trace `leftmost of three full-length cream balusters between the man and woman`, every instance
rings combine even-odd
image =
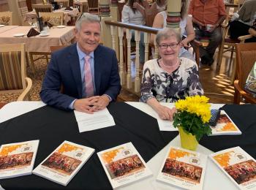
[[[119,37],[119,75],[120,75],[121,85],[124,85],[124,54],[123,54],[124,30],[121,27],[118,27],[118,37]]]

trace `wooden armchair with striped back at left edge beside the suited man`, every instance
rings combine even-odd
[[[0,94],[21,93],[18,101],[30,99],[32,80],[26,77],[25,44],[1,44],[0,68]]]

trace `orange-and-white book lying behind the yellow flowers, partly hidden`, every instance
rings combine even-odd
[[[236,124],[231,120],[231,118],[225,113],[224,110],[220,111],[219,118],[217,120],[216,126],[211,126],[211,132],[213,135],[235,135],[235,134],[242,134],[242,132],[238,129]]]

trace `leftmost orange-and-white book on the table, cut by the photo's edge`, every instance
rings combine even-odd
[[[1,145],[0,179],[30,175],[34,167],[39,140]]]

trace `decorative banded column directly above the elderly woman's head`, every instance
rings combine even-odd
[[[179,28],[181,22],[181,0],[167,1],[167,27]]]

